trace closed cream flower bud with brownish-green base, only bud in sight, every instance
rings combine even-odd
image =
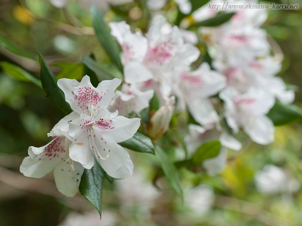
[[[150,118],[147,134],[152,140],[158,139],[169,129],[174,104],[175,96],[172,96]]]

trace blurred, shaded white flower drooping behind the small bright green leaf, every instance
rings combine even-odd
[[[185,143],[189,154],[194,154],[203,143],[219,140],[221,149],[217,156],[206,159],[203,167],[208,175],[219,174],[226,166],[227,149],[240,150],[241,143],[225,131],[219,131],[215,127],[204,128],[199,125],[189,124],[189,134],[185,136]],[[221,129],[220,129],[221,130]]]

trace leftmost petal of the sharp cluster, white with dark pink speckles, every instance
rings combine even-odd
[[[23,159],[20,165],[20,172],[27,177],[44,177],[65,156],[65,152],[62,149],[65,139],[64,137],[56,137],[49,144],[43,146],[43,152],[40,154],[34,154],[32,151],[33,147],[29,147],[29,156]]]

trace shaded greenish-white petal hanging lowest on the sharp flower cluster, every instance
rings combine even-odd
[[[75,171],[72,170],[70,165],[70,162],[68,164],[66,161],[61,161],[53,171],[57,189],[67,197],[73,197],[78,193],[79,184],[84,172],[84,168],[80,163],[74,162],[73,167]]]

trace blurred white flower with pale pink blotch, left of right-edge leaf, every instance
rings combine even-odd
[[[240,94],[228,87],[220,92],[219,97],[224,101],[226,121],[235,133],[242,126],[256,143],[265,145],[274,141],[275,127],[266,116],[275,104],[271,94],[254,87]]]

